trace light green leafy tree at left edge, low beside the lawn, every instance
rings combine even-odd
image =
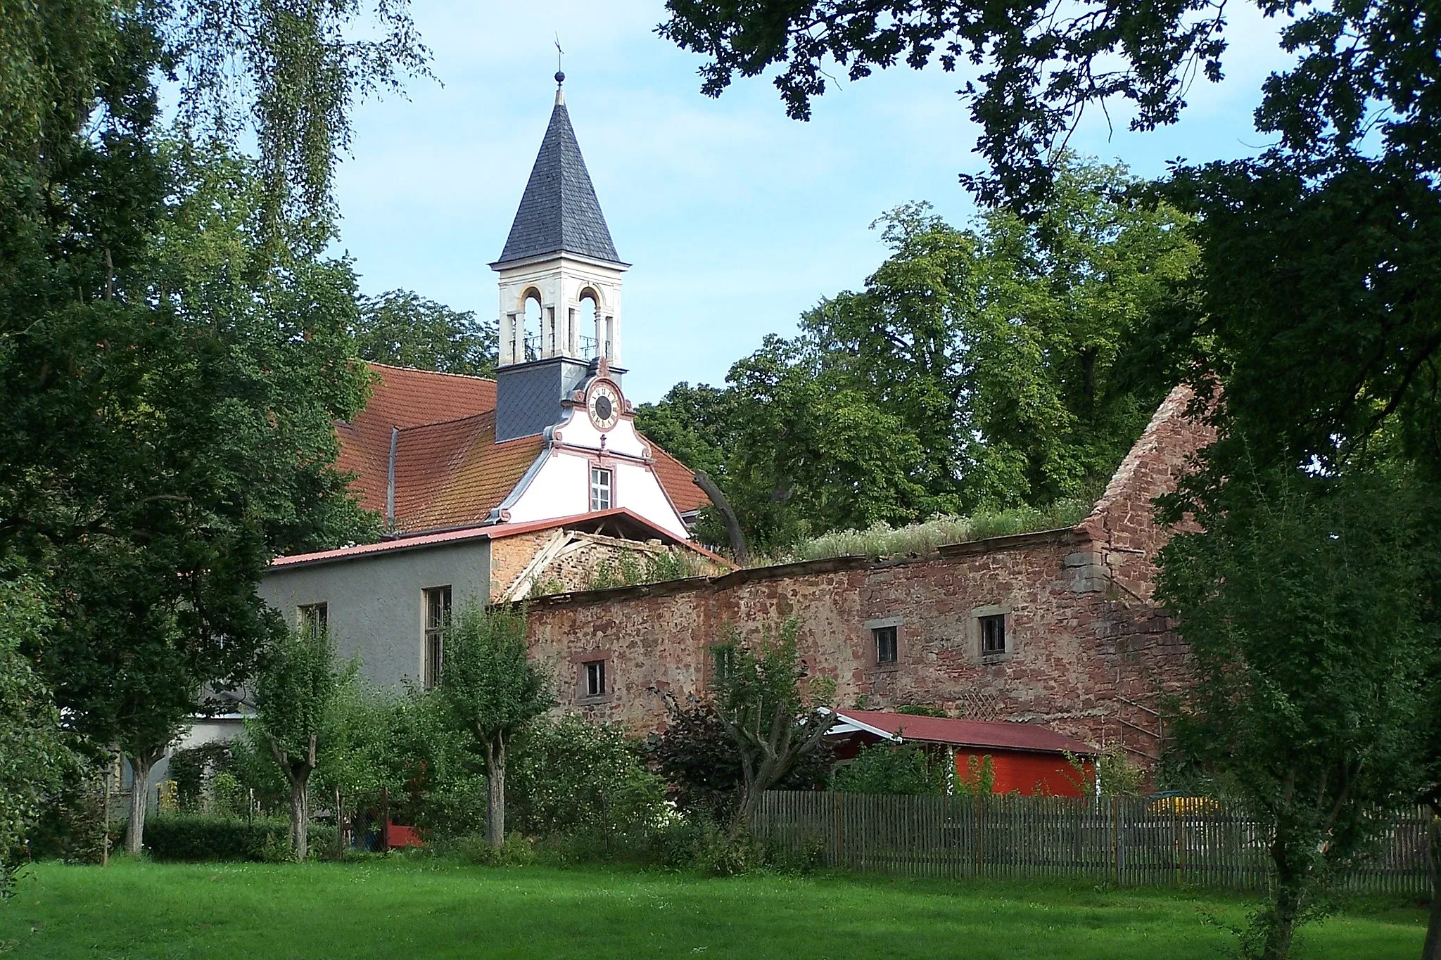
[[[16,570],[0,574],[0,898],[7,898],[24,862],[26,829],[73,757],[61,714],[22,652],[43,642],[50,617],[40,583]]]

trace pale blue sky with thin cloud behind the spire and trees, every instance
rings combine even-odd
[[[976,128],[940,68],[891,69],[831,85],[810,122],[785,117],[765,78],[720,98],[699,92],[703,59],[660,39],[663,0],[418,0],[434,79],[357,107],[337,176],[337,252],[365,294],[405,288],[483,318],[499,311],[496,273],[555,98],[555,37],[565,99],[621,259],[625,393],[720,384],[765,334],[860,289],[885,259],[870,223],[927,200],[963,226],[974,213],[960,173],[978,171]],[[1092,111],[1072,140],[1143,176],[1166,161],[1252,155],[1262,79],[1287,60],[1278,24],[1229,12],[1226,79],[1197,82],[1179,125],[1114,134]]]

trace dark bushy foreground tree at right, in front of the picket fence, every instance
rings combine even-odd
[[[1248,948],[1285,957],[1330,908],[1389,810],[1425,780],[1438,630],[1435,504],[1405,466],[1267,468],[1200,501],[1203,533],[1163,550],[1159,596],[1195,682],[1170,728],[1197,771],[1271,826],[1272,902]]]

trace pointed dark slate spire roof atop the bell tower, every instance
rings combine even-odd
[[[526,191],[520,196],[520,209],[510,225],[506,249],[494,265],[562,250],[621,262],[601,203],[595,199],[581,145],[575,142],[571,115],[565,104],[556,104]]]

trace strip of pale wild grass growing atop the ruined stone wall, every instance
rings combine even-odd
[[[908,557],[935,553],[947,544],[1010,537],[1038,530],[1075,527],[1091,512],[1091,499],[1059,499],[1049,507],[977,511],[970,517],[932,517],[919,524],[891,527],[885,522],[866,530],[843,530],[811,537],[787,554],[765,563],[794,563],[827,557]]]

